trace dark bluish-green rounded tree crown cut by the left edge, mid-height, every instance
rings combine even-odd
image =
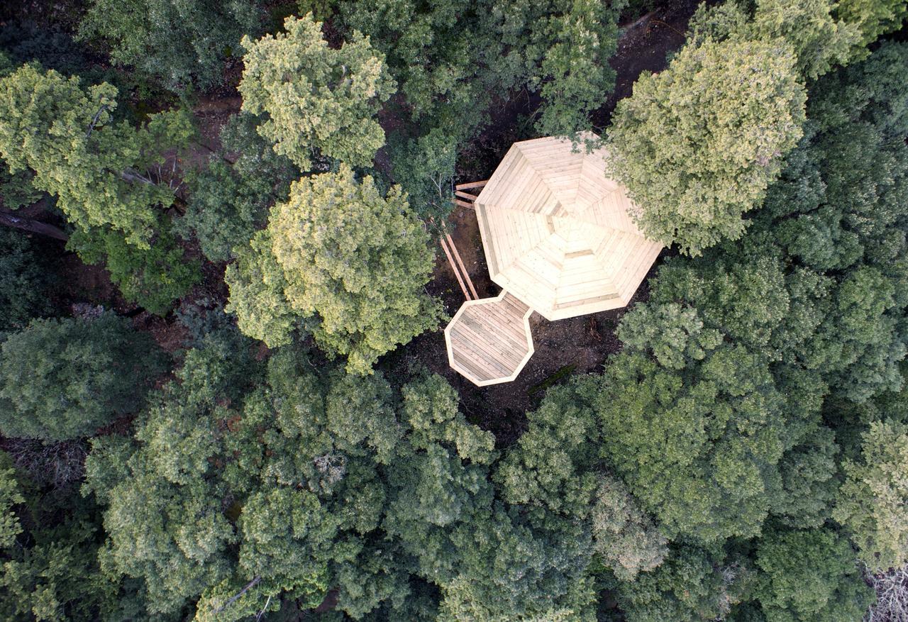
[[[161,363],[151,337],[111,312],[32,321],[0,347],[0,430],[45,440],[91,434],[142,406]]]

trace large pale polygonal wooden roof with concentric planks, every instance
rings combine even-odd
[[[514,143],[474,203],[492,281],[548,320],[626,306],[662,250],[607,157],[554,137]]]

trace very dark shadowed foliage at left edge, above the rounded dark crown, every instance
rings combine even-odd
[[[0,331],[20,329],[51,310],[48,262],[25,232],[0,230]]]

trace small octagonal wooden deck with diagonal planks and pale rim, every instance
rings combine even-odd
[[[516,379],[533,355],[532,312],[507,291],[464,302],[445,329],[450,366],[480,387]]]

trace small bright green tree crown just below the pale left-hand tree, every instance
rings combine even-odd
[[[165,221],[166,222],[166,221]],[[127,301],[166,315],[173,301],[202,280],[198,260],[187,259],[167,224],[157,227],[151,247],[141,249],[110,229],[77,229],[67,242],[85,263],[101,263]]]

